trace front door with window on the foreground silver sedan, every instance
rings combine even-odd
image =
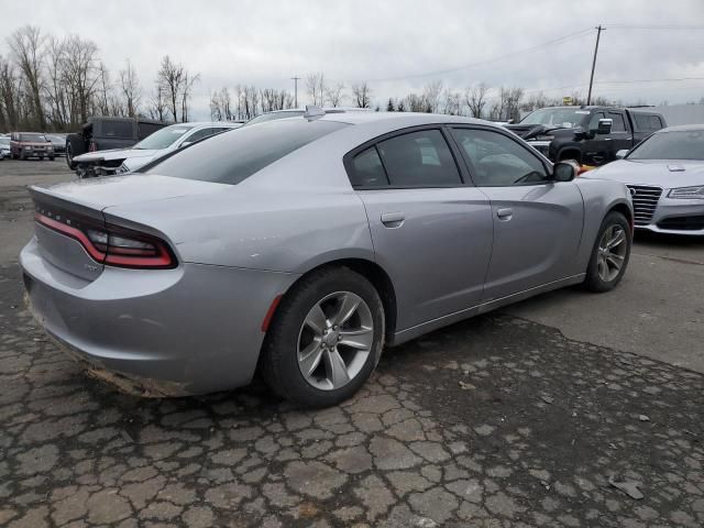
[[[483,301],[578,274],[584,206],[576,185],[553,182],[550,166],[506,132],[453,128],[452,134],[492,206],[494,245]]]

